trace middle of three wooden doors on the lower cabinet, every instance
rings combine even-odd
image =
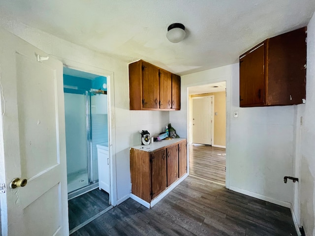
[[[166,148],[167,187],[178,179],[178,145]]]

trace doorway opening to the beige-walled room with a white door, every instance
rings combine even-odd
[[[188,88],[189,175],[225,186],[226,83]]]

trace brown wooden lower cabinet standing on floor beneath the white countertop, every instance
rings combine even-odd
[[[130,148],[131,193],[150,203],[187,173],[187,141],[157,149]]]

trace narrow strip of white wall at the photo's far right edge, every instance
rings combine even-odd
[[[315,235],[315,15],[307,29],[306,104],[296,111],[294,211],[307,236]],[[302,117],[302,124],[301,124]]]

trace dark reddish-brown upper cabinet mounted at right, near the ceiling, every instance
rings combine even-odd
[[[240,107],[303,103],[306,28],[268,38],[240,56]]]

